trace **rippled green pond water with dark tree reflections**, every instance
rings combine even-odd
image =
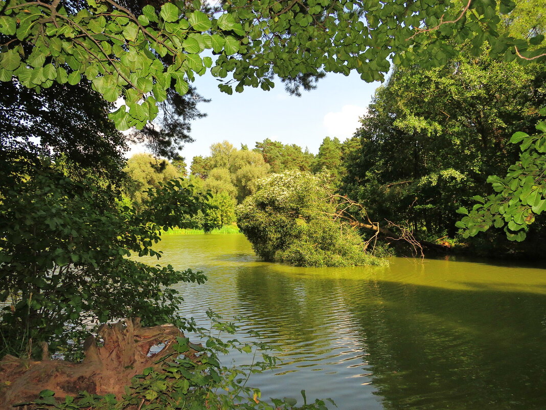
[[[546,409],[546,270],[394,258],[386,268],[257,260],[242,235],[165,237],[162,263],[206,272],[181,312],[242,317],[283,364],[263,397],[331,397],[339,409]],[[234,355],[227,360],[248,362]],[[331,408],[334,408],[331,406]]]

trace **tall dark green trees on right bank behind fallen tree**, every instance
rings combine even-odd
[[[395,69],[361,121],[343,192],[378,220],[454,237],[455,210],[517,158],[509,138],[530,131],[545,80],[544,65],[493,61],[487,50],[462,49],[442,68]]]

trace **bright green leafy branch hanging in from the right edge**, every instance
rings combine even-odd
[[[546,108],[542,110],[546,115]],[[541,133],[529,136],[516,132],[510,140],[520,144],[519,161],[508,168],[505,178],[491,175],[487,181],[496,194],[485,198],[475,196],[477,203],[468,210],[464,207],[457,212],[465,214],[457,226],[464,229],[463,236],[475,236],[491,226],[503,228],[510,241],[523,241],[529,225],[546,210],[546,122],[539,122]]]

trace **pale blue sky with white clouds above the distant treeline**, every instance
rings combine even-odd
[[[302,91],[301,97],[289,95],[276,81],[270,91],[247,87],[242,93],[220,92],[218,81],[209,73],[197,77],[193,85],[211,102],[199,104],[203,119],[194,120],[191,136],[195,142],[186,144],[181,155],[189,164],[194,156],[209,155],[213,143],[228,140],[236,148],[247,144],[254,148],[265,138],[283,144],[306,147],[313,154],[325,137],[340,140],[352,137],[358,119],[366,113],[375,89],[380,83],[366,83],[357,73],[348,77],[329,73],[318,81],[316,90]],[[129,155],[145,151],[132,147]]]

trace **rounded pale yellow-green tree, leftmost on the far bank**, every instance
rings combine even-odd
[[[127,161],[124,171],[129,177],[129,198],[136,205],[140,205],[147,198],[147,189],[158,188],[159,183],[182,176],[170,162],[158,160],[150,154],[133,155]]]

